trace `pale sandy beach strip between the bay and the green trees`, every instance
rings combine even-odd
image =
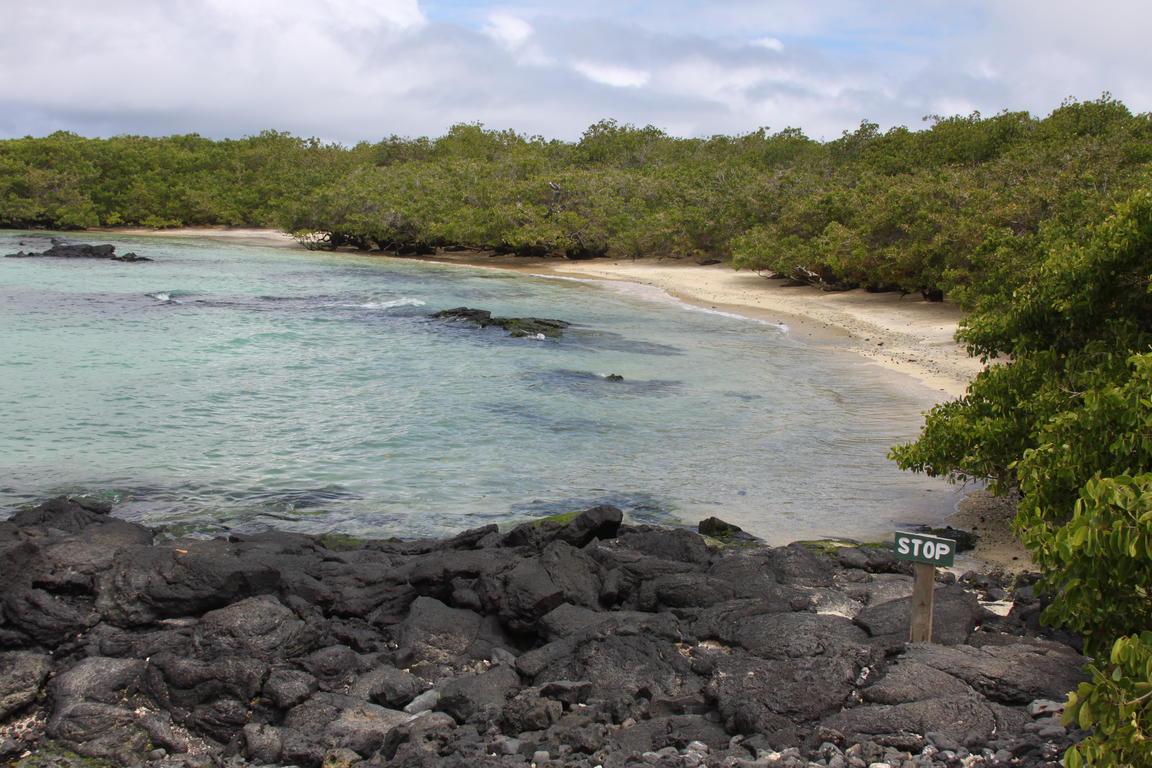
[[[303,248],[286,233],[259,228],[157,230],[124,227],[88,231]],[[804,343],[833,353],[864,358],[900,374],[893,377],[897,386],[918,382],[934,403],[962,396],[968,382],[983,367],[955,342],[954,334],[963,313],[948,303],[899,297],[896,294],[869,294],[862,289],[828,292],[811,287],[786,287],[780,281],[751,272],[736,272],[723,265],[702,266],[655,259],[568,261],[478,251],[385,258],[647,286],[692,306],[783,325],[789,335]],[[1031,561],[1028,550],[1011,532],[1011,518],[1010,504],[975,491],[957,504],[946,523],[979,534],[976,549],[967,553],[970,557],[1016,573],[1029,570]]]

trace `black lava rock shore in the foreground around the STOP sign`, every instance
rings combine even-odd
[[[438,541],[172,539],[83,499],[0,522],[16,766],[1058,766],[1084,659],[884,548],[568,520]],[[1005,603],[1006,606],[1009,603]],[[1074,640],[1071,640],[1075,642]]]

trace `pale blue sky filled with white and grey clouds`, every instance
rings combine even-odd
[[[0,138],[573,140],[1152,111],[1144,0],[0,0]]]

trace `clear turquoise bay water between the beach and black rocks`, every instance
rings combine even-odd
[[[92,493],[180,531],[412,538],[607,502],[783,542],[886,535],[956,501],[885,459],[926,390],[779,326],[606,283],[79,242],[154,261],[0,259],[2,510]],[[0,233],[0,253],[46,246]],[[429,318],[454,306],[575,325]]]

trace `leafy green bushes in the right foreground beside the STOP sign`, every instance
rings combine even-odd
[[[1053,223],[998,248],[1030,266],[985,287],[961,326],[988,367],[893,456],[1022,493],[1015,526],[1051,599],[1043,618],[1094,657],[1066,716],[1096,730],[1068,765],[1150,765],[1152,192],[1086,233]]]

